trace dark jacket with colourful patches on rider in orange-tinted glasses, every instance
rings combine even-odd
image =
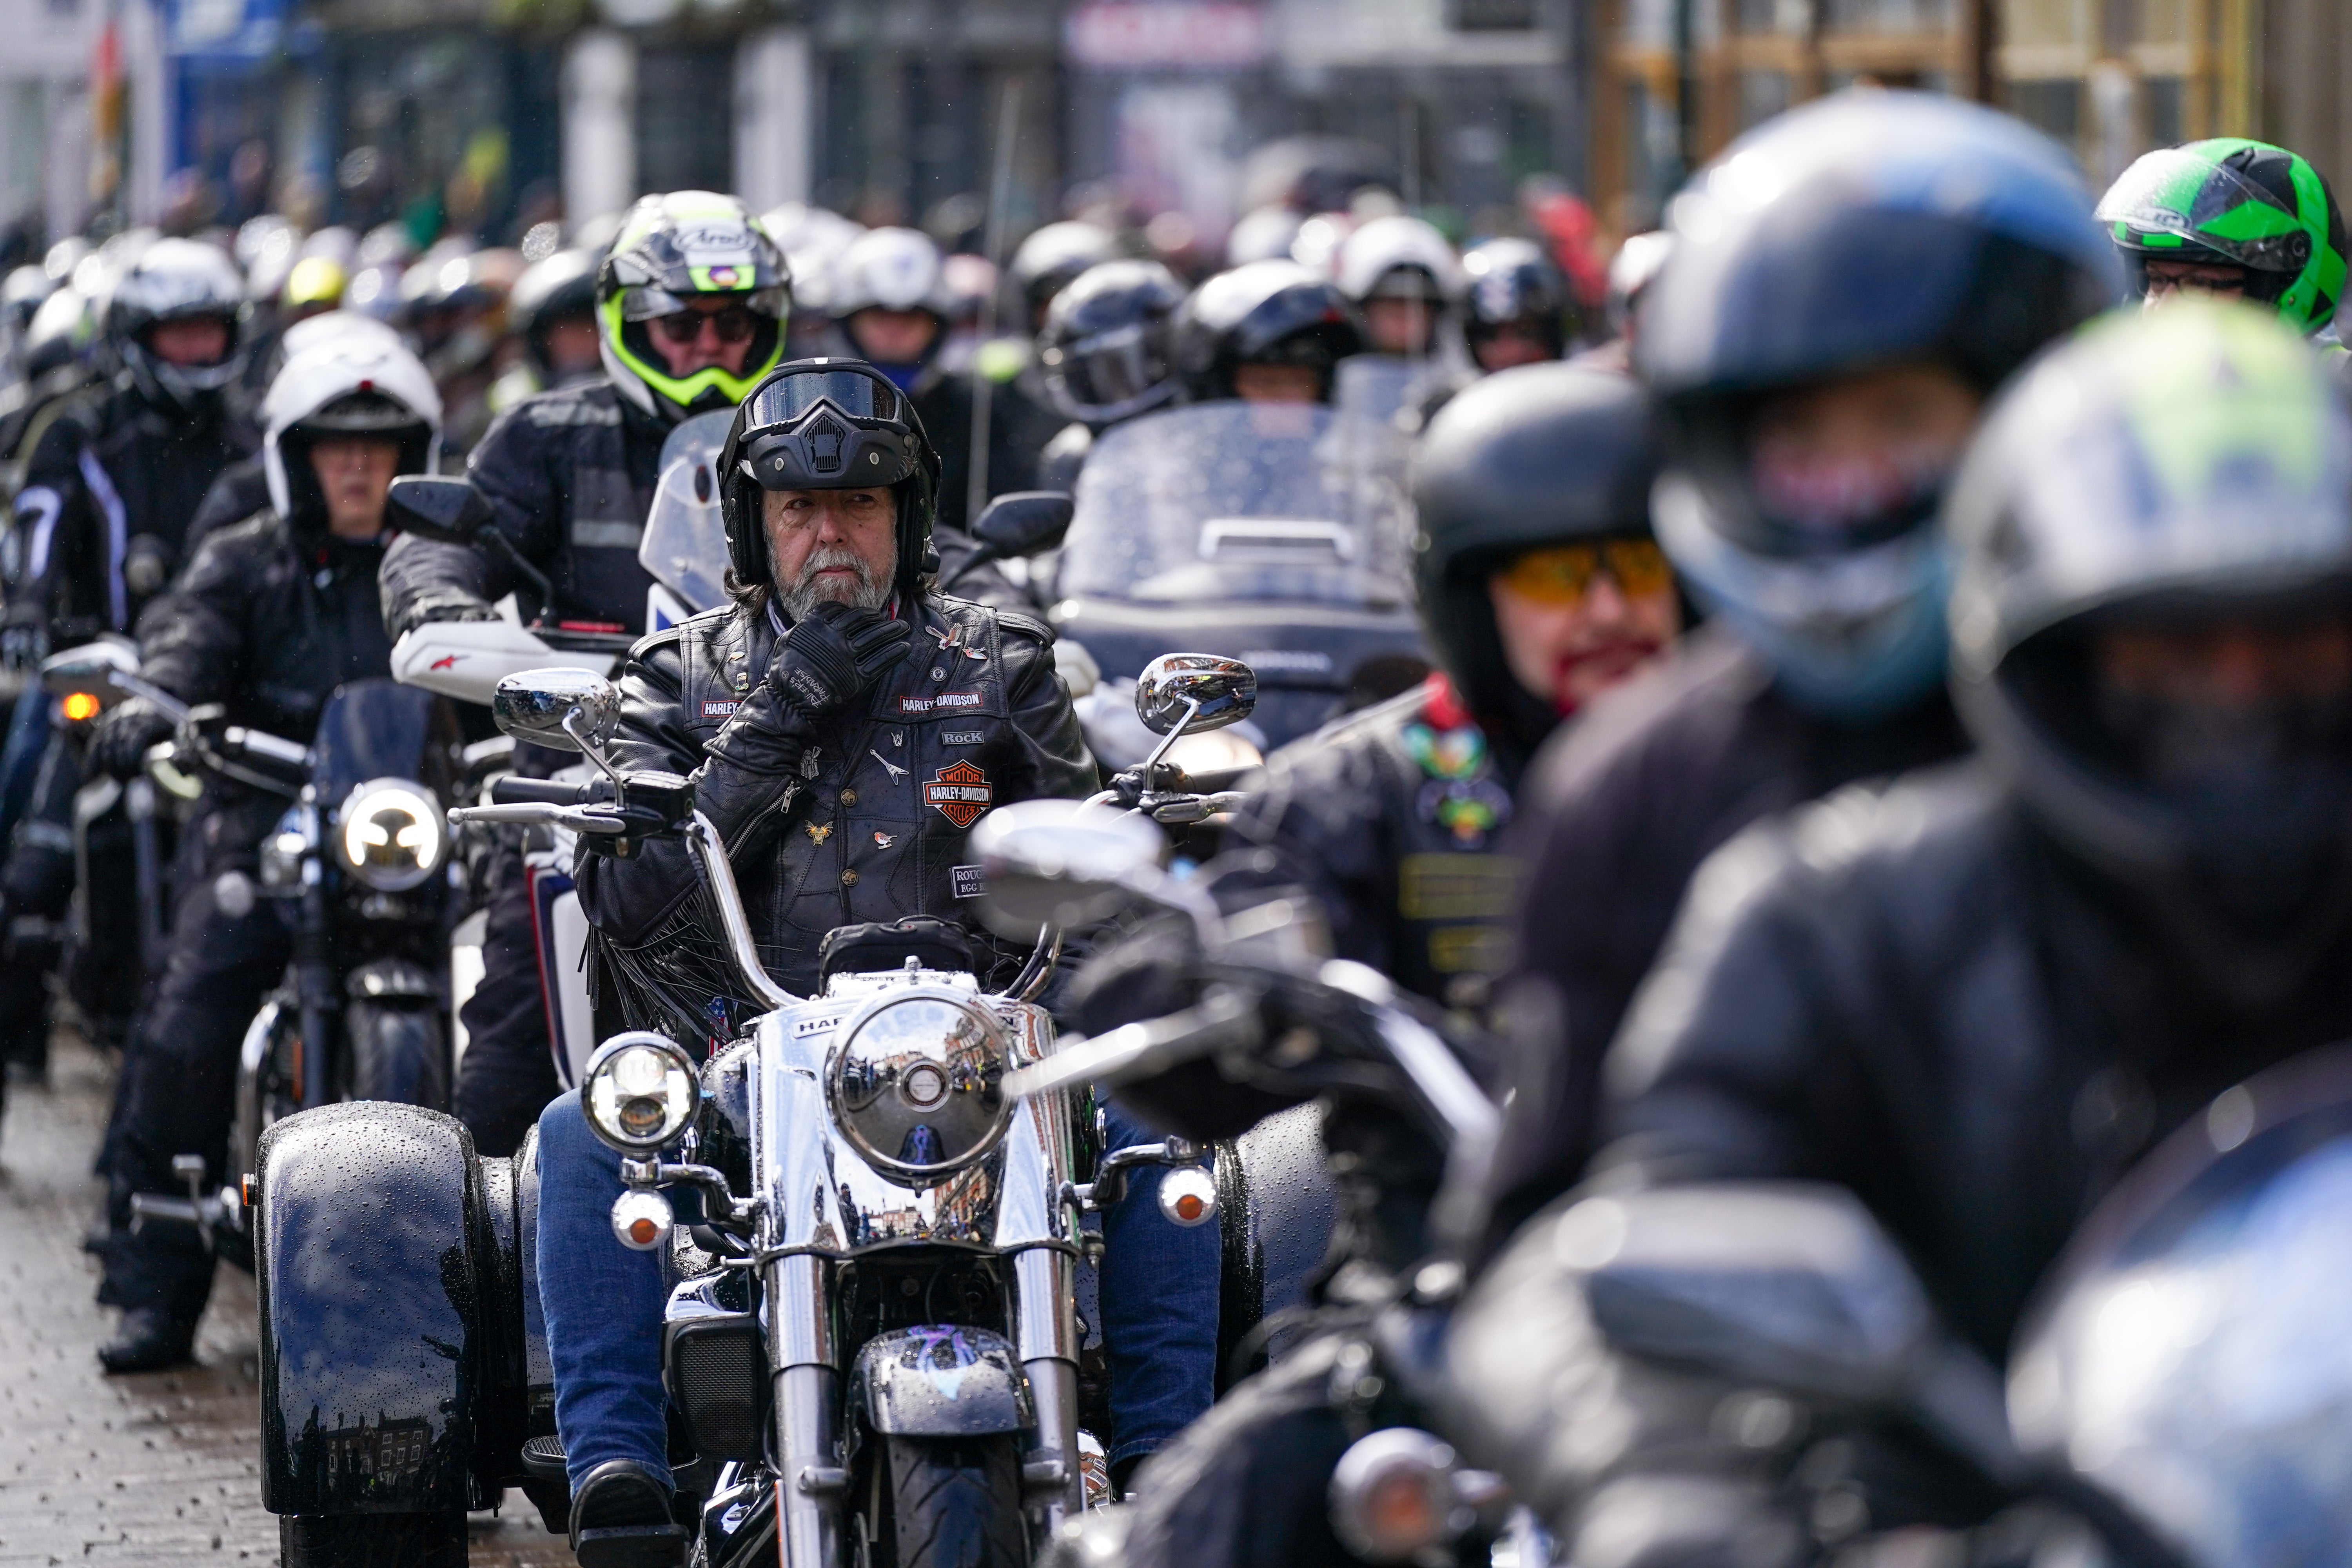
[[[1508,820],[1486,738],[1432,677],[1268,757],[1232,839],[1315,893],[1338,957],[1475,1011],[1505,957]]]

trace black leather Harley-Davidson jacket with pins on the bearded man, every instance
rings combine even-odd
[[[835,926],[934,914],[976,931],[969,827],[993,806],[1096,788],[1042,621],[934,592],[913,618],[908,661],[814,724],[767,679],[779,625],[764,609],[656,632],[621,675],[619,766],[694,778],[760,957],[800,994],[816,992],[818,943]],[[576,877],[600,971],[621,980],[633,1020],[663,1018],[661,997],[691,994],[696,1013],[741,1001],[682,844],[626,860],[583,853]],[[1023,957],[988,938],[976,950],[983,971]]]

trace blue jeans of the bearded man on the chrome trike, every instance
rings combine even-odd
[[[1157,1133],[1110,1112],[1112,1147]],[[1145,1455],[1216,1394],[1216,1225],[1160,1215],[1160,1171],[1103,1215],[1103,1342],[1110,1354],[1110,1462]],[[612,1234],[621,1157],[597,1143],[576,1093],[539,1114],[539,1307],[555,1366],[555,1432],[572,1486],[604,1460],[668,1474],[661,1392],[661,1253]]]

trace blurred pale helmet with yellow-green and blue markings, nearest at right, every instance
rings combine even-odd
[[[2352,917],[2352,698],[2239,698],[2117,639],[2352,625],[2352,414],[2256,306],[2112,315],[2002,400],[1952,489],[1952,691],[1987,762],[2185,961],[2260,1006]]]

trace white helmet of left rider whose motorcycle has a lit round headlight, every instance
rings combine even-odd
[[[287,360],[261,400],[261,468],[280,517],[318,501],[306,458],[320,435],[381,435],[400,442],[397,473],[440,470],[440,393],[383,329],[346,329]]]

